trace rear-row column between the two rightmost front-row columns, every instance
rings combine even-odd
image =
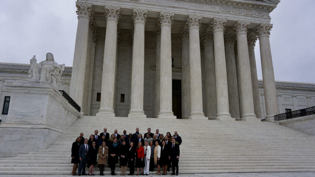
[[[255,109],[255,114],[257,118],[261,119],[261,108],[260,108],[259,90],[258,90],[258,77],[257,77],[257,68],[256,68],[256,60],[255,60],[256,40],[257,40],[256,36],[247,36],[250,73],[252,77],[252,87],[253,87],[254,109]]]

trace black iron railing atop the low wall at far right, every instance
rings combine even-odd
[[[291,119],[295,117],[308,116],[312,114],[315,114],[315,106],[296,110],[296,111],[286,112],[283,114],[278,114],[278,115],[275,115],[274,117],[275,117],[275,121],[279,121],[279,120]]]

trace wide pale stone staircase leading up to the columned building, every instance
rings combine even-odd
[[[148,127],[162,134],[178,131],[183,140],[180,173],[315,171],[315,136],[276,123],[84,116],[46,149],[1,160],[0,174],[71,174],[72,142],[81,132],[88,138],[104,127],[110,134],[114,129],[135,133],[137,127],[141,134]]]

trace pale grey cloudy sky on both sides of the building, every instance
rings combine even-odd
[[[282,0],[270,14],[275,80],[315,83],[315,0]],[[29,63],[51,52],[72,66],[77,31],[75,0],[1,0],[0,62]],[[262,79],[259,42],[255,47]]]

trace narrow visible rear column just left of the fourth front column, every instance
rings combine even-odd
[[[156,51],[156,77],[155,77],[155,114],[157,117],[160,111],[160,55],[161,55],[161,29],[160,26],[155,31],[155,38],[157,40],[157,51]]]

